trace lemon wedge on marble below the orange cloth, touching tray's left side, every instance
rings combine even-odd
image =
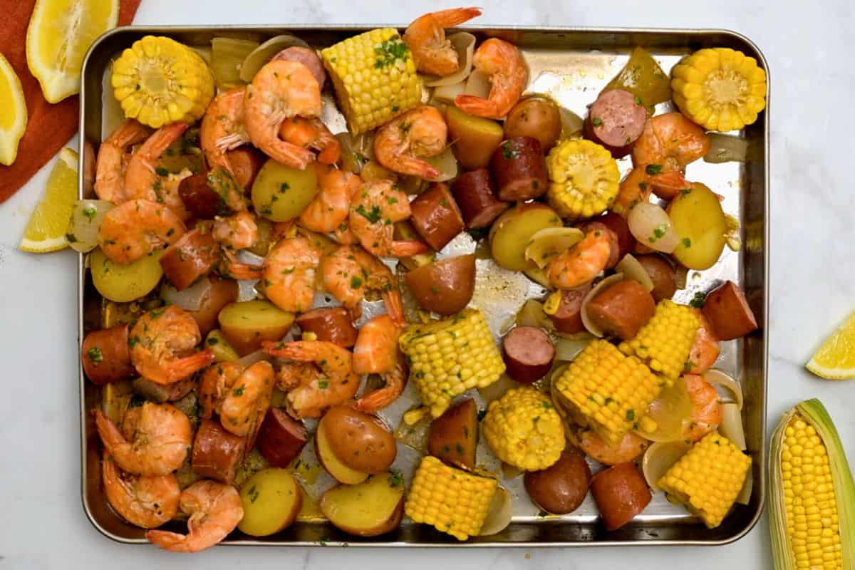
[[[27,222],[18,246],[32,253],[48,253],[68,247],[68,221],[77,202],[77,153],[62,149],[48,178],[44,198]]]

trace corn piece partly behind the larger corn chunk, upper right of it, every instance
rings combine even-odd
[[[691,307],[665,299],[657,304],[656,313],[635,338],[618,347],[623,354],[638,356],[671,383],[686,370],[699,326],[700,320]]]

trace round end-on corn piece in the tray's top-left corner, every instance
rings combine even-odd
[[[195,51],[174,39],[145,36],[113,63],[110,78],[125,116],[160,128],[204,115],[214,97],[214,74]]]

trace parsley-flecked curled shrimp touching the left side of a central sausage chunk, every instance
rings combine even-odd
[[[363,182],[351,203],[351,232],[363,248],[378,257],[410,257],[428,251],[420,241],[396,241],[396,221],[411,215],[407,195],[391,180]]]

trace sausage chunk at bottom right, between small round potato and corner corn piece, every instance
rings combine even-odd
[[[634,463],[621,463],[594,475],[591,494],[608,531],[614,531],[633,520],[652,498],[650,489]]]

